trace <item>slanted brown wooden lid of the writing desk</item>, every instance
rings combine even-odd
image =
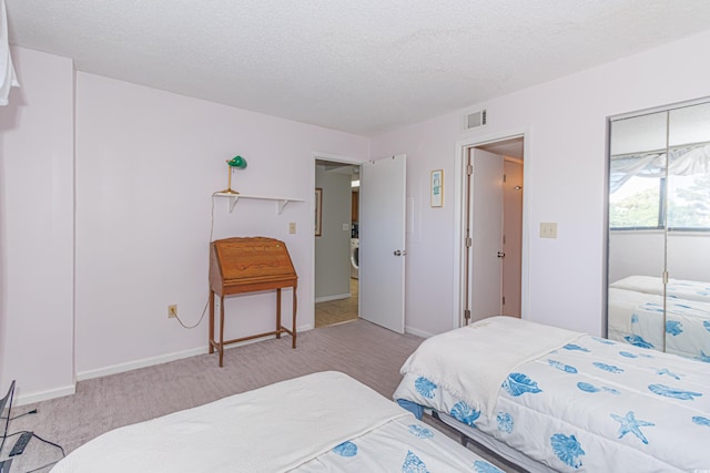
[[[295,278],[286,245],[274,238],[225,238],[213,243],[225,281]]]

